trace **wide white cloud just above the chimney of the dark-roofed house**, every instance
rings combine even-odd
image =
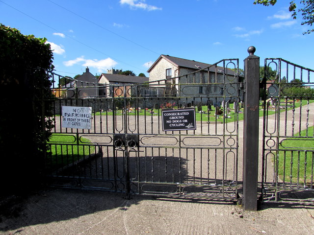
[[[84,62],[82,66],[90,67],[97,69],[98,72],[104,72],[106,69],[110,69],[115,67],[118,63],[112,60],[111,58],[106,58],[104,60],[91,60],[91,59],[84,59],[84,56],[80,56],[74,60],[64,61],[63,64],[67,67],[73,66],[75,64],[79,64],[80,62]]]

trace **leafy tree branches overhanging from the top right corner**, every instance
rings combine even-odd
[[[262,4],[264,6],[275,5],[277,0],[255,0],[253,4]],[[289,11],[292,12],[291,17],[296,19],[297,12],[301,13],[302,19],[304,20],[301,25],[309,25],[312,27],[314,24],[314,0],[300,0],[300,4],[302,5],[297,9],[297,5],[294,0],[290,1]],[[310,34],[314,32],[314,28],[309,29],[303,34]]]

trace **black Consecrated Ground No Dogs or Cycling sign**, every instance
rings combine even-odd
[[[163,110],[163,131],[196,130],[195,109]]]

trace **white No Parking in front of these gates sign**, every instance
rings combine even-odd
[[[62,106],[62,127],[91,129],[92,107]]]

